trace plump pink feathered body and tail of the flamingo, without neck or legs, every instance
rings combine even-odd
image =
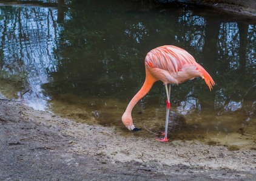
[[[178,84],[195,77],[203,78],[210,90],[215,84],[194,57],[177,46],[165,45],[152,49],[147,53],[145,64],[149,66],[151,74],[164,84]]]

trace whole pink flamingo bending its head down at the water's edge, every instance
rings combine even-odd
[[[207,86],[209,86],[209,89],[211,90],[215,83],[206,70],[195,62],[194,57],[177,46],[165,45],[152,49],[147,53],[145,68],[146,79],[144,84],[128,104],[126,111],[122,116],[122,121],[129,130],[141,130],[133,125],[132,109],[135,104],[149,92],[155,81],[161,80],[164,83],[167,95],[166,127],[164,139],[157,140],[168,141],[167,127],[170,110],[170,84],[179,84],[186,80],[194,79],[195,77],[201,77],[205,80]],[[169,84],[169,87],[167,87],[167,84]]]

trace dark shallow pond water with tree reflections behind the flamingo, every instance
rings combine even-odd
[[[47,1],[44,1],[47,2]],[[54,2],[54,1],[51,1]],[[59,10],[61,11],[61,10]],[[150,49],[176,45],[203,65],[201,78],[172,86],[169,142],[256,149],[256,27],[237,14],[148,1],[68,1],[0,7],[0,91],[39,110],[158,138],[166,95],[154,84],[133,109],[140,132],[121,116],[144,81]]]

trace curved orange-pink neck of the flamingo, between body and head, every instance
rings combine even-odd
[[[132,109],[135,106],[135,104],[138,103],[138,101],[140,101],[141,98],[143,98],[147,94],[147,92],[149,92],[149,90],[151,89],[155,81],[157,80],[153,78],[152,75],[146,74],[146,79],[144,81],[144,84],[139,90],[139,92],[137,92],[137,94],[132,98],[132,100],[128,104],[125,112],[126,114],[129,114],[129,115],[132,114]]]

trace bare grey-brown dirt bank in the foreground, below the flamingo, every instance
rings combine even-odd
[[[256,151],[124,138],[0,101],[0,180],[256,180]]]

